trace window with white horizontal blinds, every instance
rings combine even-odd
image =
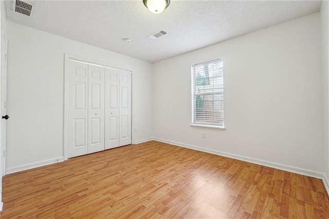
[[[192,66],[192,126],[224,128],[223,59]]]

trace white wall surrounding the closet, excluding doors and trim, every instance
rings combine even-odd
[[[153,136],[150,63],[12,22],[7,31],[8,173],[63,158],[64,53],[133,69],[133,137]]]

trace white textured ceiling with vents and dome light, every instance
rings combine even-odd
[[[157,62],[236,36],[318,12],[321,1],[178,1],[161,14],[138,1],[28,1],[32,17],[12,11],[7,20],[65,38]],[[157,40],[147,38],[168,32]],[[123,39],[131,39],[130,43]]]

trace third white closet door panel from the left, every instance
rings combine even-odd
[[[119,76],[105,69],[105,149],[119,147]]]

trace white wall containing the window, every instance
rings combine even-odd
[[[155,63],[154,136],[323,173],[320,43],[315,13]],[[227,129],[191,127],[191,65],[218,58],[224,59]]]

